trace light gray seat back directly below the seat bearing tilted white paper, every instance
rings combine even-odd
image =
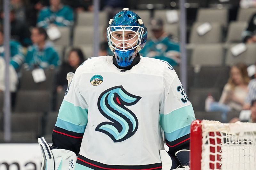
[[[198,44],[192,51],[191,65],[220,66],[223,63],[223,50],[221,44]]]

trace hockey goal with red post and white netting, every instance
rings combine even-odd
[[[191,170],[256,170],[256,123],[195,120]]]

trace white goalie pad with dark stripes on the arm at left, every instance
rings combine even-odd
[[[41,170],[74,170],[76,165],[75,152],[66,149],[50,149],[44,137],[38,138],[43,158]]]

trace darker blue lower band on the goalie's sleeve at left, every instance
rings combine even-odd
[[[86,125],[75,125],[73,123],[57,119],[56,126],[76,133],[84,133]]]

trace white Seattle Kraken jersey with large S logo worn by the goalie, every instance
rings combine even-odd
[[[161,169],[163,133],[170,142],[190,133],[194,111],[176,72],[140,57],[131,70],[116,68],[113,56],[87,59],[76,70],[54,132],[82,138],[77,170]]]

